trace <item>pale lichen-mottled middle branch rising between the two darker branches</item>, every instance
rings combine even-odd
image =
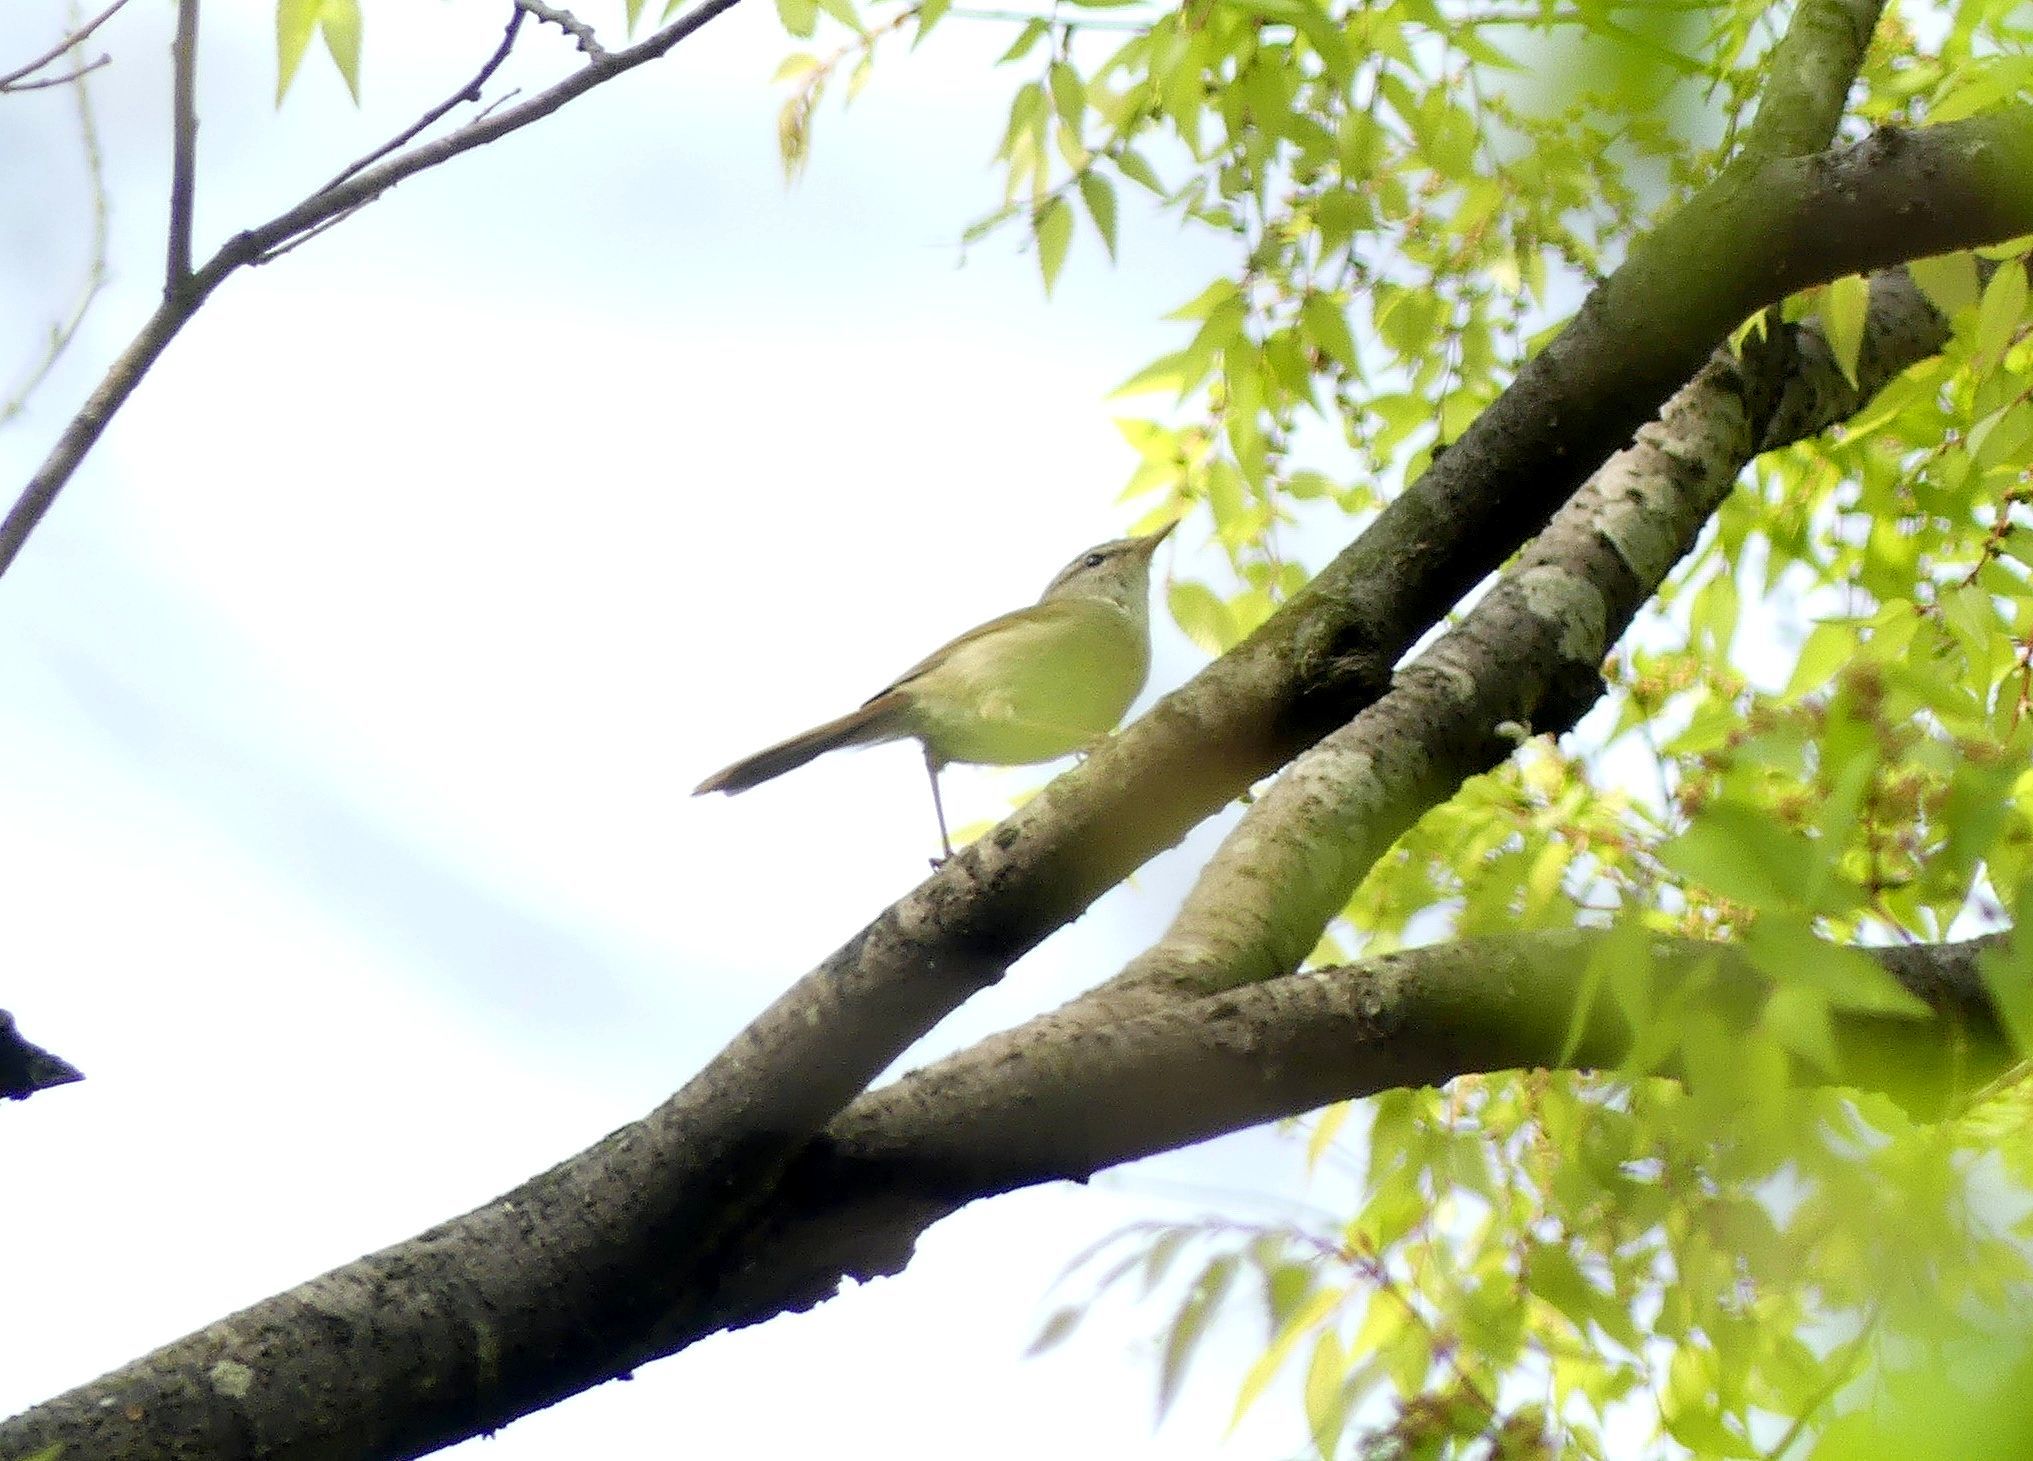
[[[1891,319],[1942,323],[1901,270],[1876,282],[1881,341]],[[1874,323],[1874,329],[1870,327]],[[1783,331],[1767,372],[1828,392],[1834,372],[1818,327]],[[1876,345],[1860,386],[1893,362]],[[1769,437],[1754,396],[1757,362],[1730,352],[1639,433],[1553,516],[1468,616],[1397,675],[1391,691],[1303,752],[1216,849],[1165,937],[1102,998],[1204,994],[1210,979],[1267,979],[1299,967],[1391,843],[1456,788],[1502,762],[1523,729],[1569,729],[1602,691],[1600,664],[1693,547],[1742,467]],[[1834,382],[1830,380],[1834,376]],[[1773,388],[1777,380],[1773,382]],[[1862,390],[1820,394],[1848,415]],[[1799,396],[1795,396],[1797,400]],[[1777,406],[1777,398],[1773,400]],[[1795,427],[1840,417],[1795,417]]]

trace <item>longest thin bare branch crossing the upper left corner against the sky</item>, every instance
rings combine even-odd
[[[183,0],[183,4],[193,8],[195,2],[197,0]],[[655,35],[644,37],[632,47],[588,57],[586,65],[577,71],[567,75],[563,81],[545,87],[520,106],[504,108],[496,114],[468,122],[459,130],[449,136],[441,136],[435,142],[419,142],[407,152],[382,158],[380,163],[350,175],[344,183],[317,189],[295,207],[270,217],[266,224],[228,238],[226,244],[220,246],[220,250],[205,260],[203,266],[189,272],[183,287],[175,291],[173,297],[167,297],[155,315],[148,317],[140,335],[136,335],[112,364],[104,380],[100,380],[98,390],[91,392],[91,398],[63,429],[63,435],[57,437],[57,445],[51,447],[43,465],[37,467],[35,475],[22,488],[6,518],[0,520],[0,573],[6,573],[14,559],[20,557],[22,545],[49,512],[57,494],[63,492],[63,484],[77,471],[77,463],[81,463],[85,453],[91,451],[100,433],[106,431],[106,423],[116,410],[120,410],[126,398],[134,394],[134,386],[140,384],[140,378],[150,366],[155,366],[169,341],[177,337],[177,331],[183,329],[193,313],[197,313],[197,307],[203,305],[211,291],[224,284],[236,270],[258,262],[264,256],[272,256],[293,240],[358,211],[362,205],[374,201],[390,187],[415,177],[417,173],[449,163],[461,152],[472,152],[476,146],[486,146],[488,142],[504,138],[510,132],[520,132],[531,122],[541,122],[567,102],[592,91],[596,85],[612,81],[626,71],[634,71],[638,65],[661,59],[673,47],[703,30],[712,20],[726,14],[736,4],[740,4],[740,0],[703,0],[697,8],[687,10],[677,20],[663,26]]]

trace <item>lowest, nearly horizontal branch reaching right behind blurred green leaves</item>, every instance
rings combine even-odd
[[[956,1057],[864,1095],[787,1177],[724,1288],[671,1347],[807,1309],[842,1276],[899,1272],[917,1235],[970,1201],[1397,1087],[1561,1065],[1596,933],[1472,939],[1315,969],[1116,1020],[1090,1008],[1000,1061]],[[1998,937],[1872,949],[1937,1020],[1842,1012],[1836,1083],[1937,1114],[2013,1061],[1978,955]],[[1726,945],[1659,939],[1661,986],[1724,959],[1746,1014],[1769,983]],[[1630,1030],[1592,1008],[1574,1069],[1614,1069]],[[1803,1083],[1832,1073],[1797,1069]]]

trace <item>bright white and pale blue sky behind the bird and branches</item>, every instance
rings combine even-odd
[[[6,482],[159,287],[167,12],[102,33],[116,282],[0,431]],[[199,252],[451,91],[502,18],[370,0],[364,108],[313,51],[276,114],[270,0],[211,0]],[[49,0],[12,6],[0,69],[59,26]],[[917,57],[888,47],[785,189],[768,75],[787,43],[748,0],[236,278],[118,417],[0,583],[0,1004],[89,1077],[0,1111],[0,1412],[640,1116],[923,876],[915,748],[687,792],[1128,524],[1106,392],[1177,341],[1159,315],[1226,254],[1124,193],[1124,264],[1082,234],[1049,305],[1010,240],[958,266],[960,230],[998,199],[1021,77],[988,61],[1008,35],[947,22]],[[545,63],[525,87],[571,55],[555,30],[522,49]],[[0,98],[0,183],[4,388],[83,258],[63,91]],[[1181,538],[1159,571],[1212,571]],[[1197,662],[1163,624],[1153,693]],[[1039,780],[949,774],[956,827]],[[911,1063],[1120,967],[1208,839]],[[1289,1408],[1222,1441],[1254,1323],[1210,1345],[1157,1433],[1163,1307],[1021,1351],[1082,1294],[1047,1288],[1088,1242],[1145,1217],[1283,1217],[1307,1201],[1297,1172],[1291,1138],[1250,1134],[980,1205],[903,1278],[478,1455],[1291,1451]]]

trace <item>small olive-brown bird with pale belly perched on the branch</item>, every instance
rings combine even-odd
[[[860,709],[758,750],[693,788],[730,797],[844,746],[917,740],[939,801],[949,762],[1029,766],[1088,750],[1116,727],[1151,675],[1151,555],[1177,524],[1088,549],[1037,604],[978,624],[907,669]]]

